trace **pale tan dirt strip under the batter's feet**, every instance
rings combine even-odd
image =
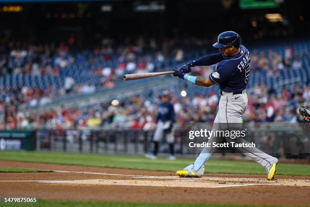
[[[5,181],[2,181],[5,182]],[[11,181],[12,182],[12,181]],[[34,181],[38,183],[53,184],[75,184],[75,185],[115,185],[115,186],[150,186],[150,187],[182,187],[182,188],[225,188],[225,187],[242,187],[253,185],[271,185],[271,186],[298,186],[310,187],[310,180],[289,180],[278,179],[266,181],[255,178],[192,178],[179,179],[173,176],[148,176],[136,177],[131,180],[118,178],[114,179],[92,179],[92,180],[51,180],[51,181]]]

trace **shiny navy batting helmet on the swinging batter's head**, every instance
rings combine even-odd
[[[217,37],[217,43],[213,44],[215,48],[223,48],[226,46],[234,45],[240,47],[241,38],[235,31],[224,31]]]

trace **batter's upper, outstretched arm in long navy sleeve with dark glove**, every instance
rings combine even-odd
[[[201,57],[197,60],[190,61],[178,69],[182,73],[187,74],[187,73],[190,73],[191,67],[195,67],[195,66],[199,66],[199,65],[213,65],[213,64],[216,64],[216,63],[222,61],[223,58],[224,58],[224,56],[222,55],[222,53],[207,55],[207,56]]]

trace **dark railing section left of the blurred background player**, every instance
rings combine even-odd
[[[153,131],[140,129],[46,130],[36,132],[36,150],[113,154],[147,153]]]

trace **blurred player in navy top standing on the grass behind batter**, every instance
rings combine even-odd
[[[158,105],[157,126],[153,136],[152,145],[153,152],[146,154],[145,157],[149,159],[156,159],[159,150],[159,142],[166,137],[166,141],[169,144],[170,156],[168,159],[174,160],[174,131],[173,123],[175,113],[173,105],[170,102],[169,91],[163,91],[160,96],[161,103]]]

